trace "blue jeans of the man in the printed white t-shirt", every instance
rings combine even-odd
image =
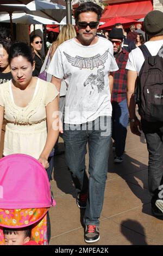
[[[99,117],[82,125],[64,124],[65,159],[77,192],[89,191],[85,225],[98,225],[101,215],[111,141],[111,117]],[[89,180],[85,174],[89,146]]]

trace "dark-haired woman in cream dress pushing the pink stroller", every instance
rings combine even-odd
[[[0,130],[7,120],[3,155],[22,153],[48,168],[48,156],[57,141],[58,91],[52,83],[32,76],[32,49],[15,42],[9,63],[13,79],[0,87]]]

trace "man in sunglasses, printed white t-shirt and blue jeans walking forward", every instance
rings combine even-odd
[[[48,72],[58,90],[62,78],[67,84],[65,159],[78,193],[77,205],[86,208],[85,242],[92,243],[99,240],[111,140],[111,72],[118,66],[111,42],[96,36],[102,8],[86,2],[79,5],[74,15],[78,36],[57,48]],[[87,143],[89,179],[85,173]]]

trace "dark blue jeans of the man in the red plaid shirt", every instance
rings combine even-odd
[[[127,101],[112,102],[112,138],[115,141],[115,154],[121,157],[124,153],[128,125]]]

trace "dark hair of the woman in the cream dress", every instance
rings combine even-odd
[[[29,47],[26,42],[14,42],[10,47],[9,52],[9,64],[11,60],[15,57],[22,56],[28,60],[33,65],[34,53],[31,47]]]

